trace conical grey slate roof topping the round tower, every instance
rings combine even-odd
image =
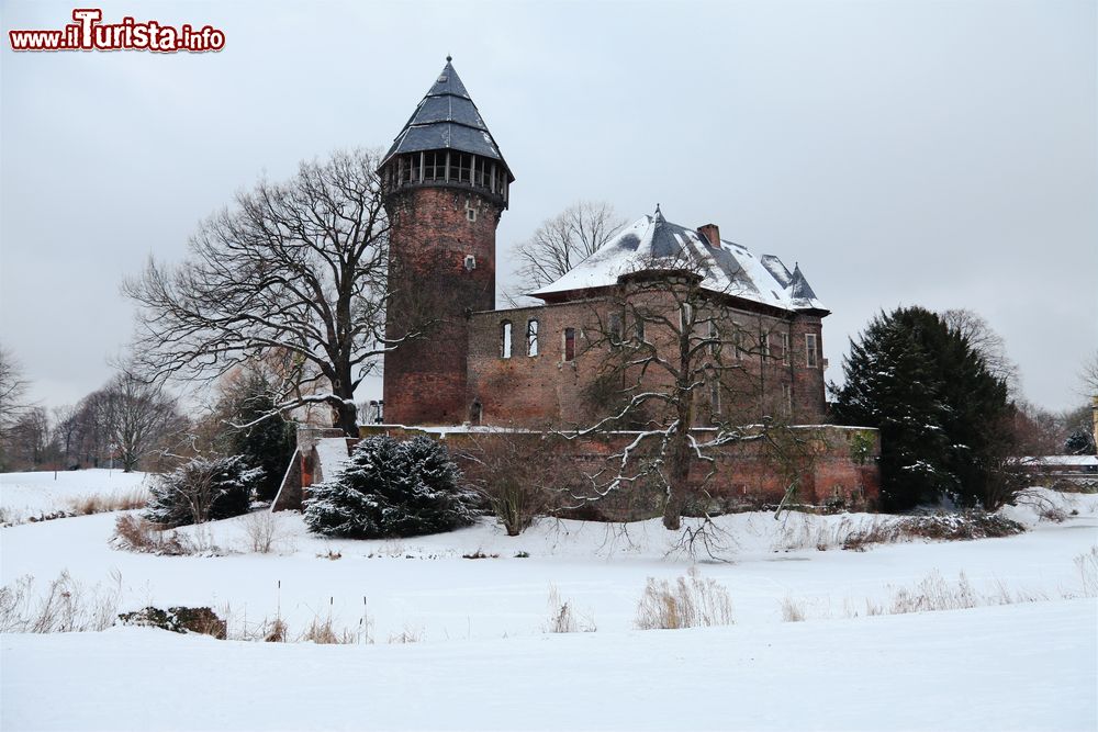
[[[507,168],[495,138],[453,70],[449,56],[438,79],[396,135],[381,165],[384,166],[394,155],[444,149],[480,155],[498,160]],[[509,168],[507,174],[515,180]]]

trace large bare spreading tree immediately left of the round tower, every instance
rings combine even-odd
[[[304,162],[208,219],[171,267],[149,260],[123,292],[139,306],[134,358],[153,376],[215,379],[285,362],[277,408],[326,404],[356,430],[355,388],[404,337],[385,337],[389,222],[374,153]]]

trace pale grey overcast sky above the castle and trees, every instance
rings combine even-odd
[[[77,3],[87,7],[89,3]],[[848,338],[971,308],[1024,394],[1082,403],[1098,349],[1095,2],[105,2],[215,54],[14,54],[72,3],[2,7],[0,342],[47,406],[110,375],[119,283],[262,174],[388,147],[447,53],[517,178],[509,249],[580,199],[713,222],[799,262]],[[359,398],[377,397],[372,384]]]

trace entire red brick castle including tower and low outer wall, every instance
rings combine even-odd
[[[461,461],[485,441],[578,433],[620,410],[626,417],[613,429],[571,439],[552,458],[590,476],[645,430],[679,424],[692,439],[712,438],[778,421],[799,435],[793,463],[775,468],[763,441],[718,440],[685,481],[704,484],[718,510],[776,503],[791,481],[808,503],[875,503],[876,430],[824,424],[829,311],[799,267],[757,257],[714,224],[673,224],[657,206],[554,282],[524,293],[542,304],[496,309],[495,235],[515,176],[449,57],[378,172],[390,222],[385,334],[394,347],[384,356],[381,424],[361,427],[362,436],[426,431]],[[690,398],[673,396],[684,393]],[[630,410],[638,399],[646,408]],[[274,509],[300,507],[352,441],[300,428]],[[477,461],[462,468],[475,473]],[[632,520],[662,510],[658,486],[630,486],[593,499],[585,516]]]

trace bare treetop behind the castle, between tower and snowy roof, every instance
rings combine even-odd
[[[613,206],[594,201],[580,201],[541,222],[534,236],[518,245],[515,251],[519,293],[556,282],[625,224]]]

